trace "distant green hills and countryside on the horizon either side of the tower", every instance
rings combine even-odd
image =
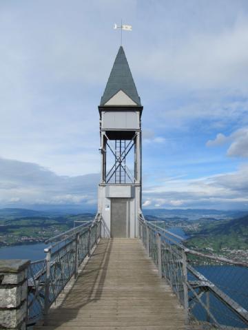
[[[248,247],[248,212],[245,211],[145,209],[143,213],[147,220],[159,218],[173,226],[183,224],[183,230],[190,235],[188,241],[192,247],[200,249],[212,247],[215,251],[220,251],[222,247],[232,249]],[[6,242],[9,244],[21,240],[22,236],[39,240],[41,237],[55,234],[56,231],[65,231],[74,225],[75,220],[92,219],[94,214],[95,212],[80,210],[76,212],[75,209],[70,208],[34,210],[7,207],[0,209],[0,231],[2,236],[6,236]],[[190,228],[193,228],[192,231]],[[8,237],[12,236],[8,236],[8,233],[14,234],[10,242]],[[1,238],[1,240],[5,239]]]

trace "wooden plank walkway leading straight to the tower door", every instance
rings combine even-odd
[[[72,289],[39,330],[180,330],[183,308],[140,240],[101,240]]]

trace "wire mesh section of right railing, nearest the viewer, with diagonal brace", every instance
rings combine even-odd
[[[192,316],[227,329],[248,328],[248,267],[190,253],[187,262],[189,285],[206,307],[199,304],[190,290]]]

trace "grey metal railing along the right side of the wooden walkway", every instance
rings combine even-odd
[[[149,256],[185,307],[185,322],[204,329],[248,329],[248,263],[187,249],[159,223],[138,219]]]

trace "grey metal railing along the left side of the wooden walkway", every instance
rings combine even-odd
[[[50,238],[52,243],[45,251],[45,259],[31,262],[28,269],[28,324],[43,318],[46,324],[48,311],[59,293],[74,276],[79,265],[90,257],[101,236],[101,215],[93,221],[74,227]]]

